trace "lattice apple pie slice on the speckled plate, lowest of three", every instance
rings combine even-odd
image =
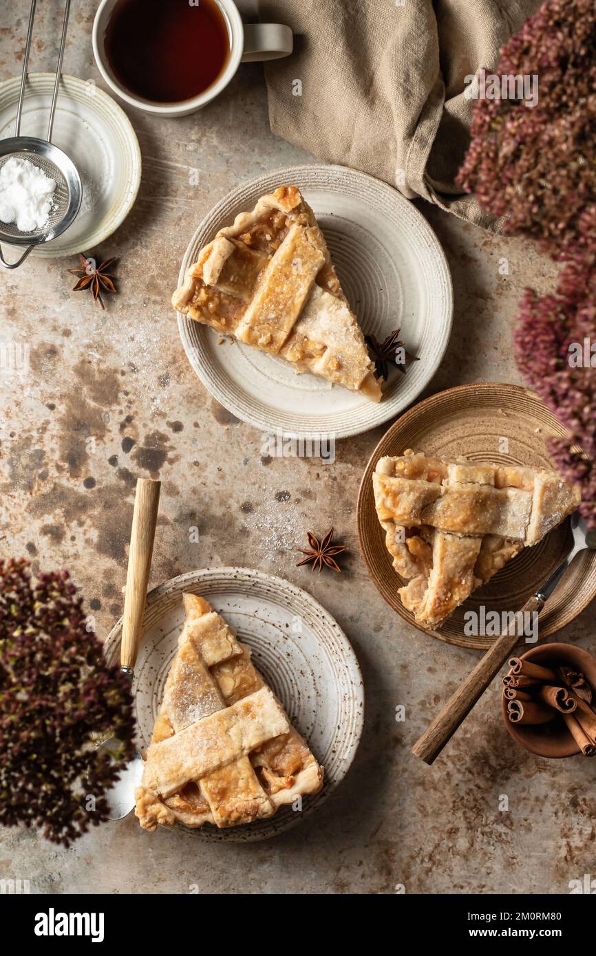
[[[141,826],[233,827],[317,793],[323,770],[251,663],[251,652],[203,598],[187,618],[135,791]]]

